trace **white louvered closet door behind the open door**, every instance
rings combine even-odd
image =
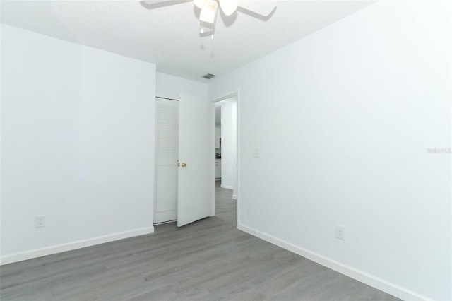
[[[177,219],[178,108],[175,100],[157,98],[154,223]]]

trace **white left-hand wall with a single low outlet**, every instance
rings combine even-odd
[[[153,232],[155,64],[1,29],[2,262]]]

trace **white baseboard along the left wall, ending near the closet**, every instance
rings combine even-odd
[[[99,237],[88,238],[88,240],[78,240],[76,242],[67,242],[66,244],[55,244],[50,247],[42,249],[33,249],[27,252],[20,252],[16,254],[7,255],[0,258],[0,265],[12,264],[13,262],[33,259],[41,256],[57,254],[61,252],[71,251],[74,249],[81,249],[90,247],[95,244],[103,244],[105,242],[112,242],[114,240],[123,240],[124,238],[146,235],[154,232],[154,227],[142,228],[137,230],[125,231],[104,235]]]

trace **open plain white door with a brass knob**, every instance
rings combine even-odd
[[[206,218],[211,213],[212,112],[213,103],[184,93],[179,94],[179,227]]]

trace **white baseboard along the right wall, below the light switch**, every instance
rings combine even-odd
[[[345,264],[341,264],[340,262],[335,261],[333,259],[329,259],[325,256],[321,256],[320,254],[316,254],[307,249],[303,249],[302,247],[298,247],[297,245],[291,244],[290,242],[280,240],[277,237],[273,237],[261,231],[249,228],[246,225],[239,224],[237,228],[253,236],[261,238],[261,240],[265,240],[267,242],[277,245],[278,247],[287,249],[288,251],[303,256],[307,259],[310,259],[316,262],[317,264],[321,264],[322,266],[331,268],[332,270],[338,271],[339,273],[342,273],[345,276],[349,276],[350,278],[353,278],[357,281],[360,281],[374,288],[382,290],[383,292],[396,296],[402,300],[431,300],[428,297],[415,293],[406,288],[402,288],[399,285],[395,285],[381,278],[372,276],[369,273],[359,271],[356,268],[352,268],[351,266],[346,266]]]

